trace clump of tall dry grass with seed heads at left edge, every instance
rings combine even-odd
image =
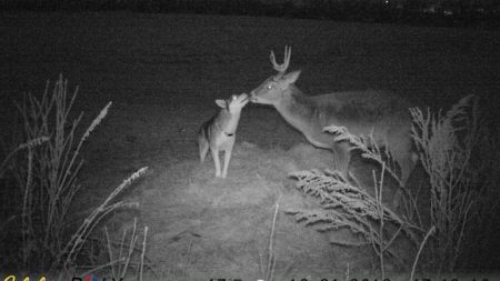
[[[123,181],[74,231],[68,218],[70,205],[80,190],[78,173],[82,167],[80,151],[90,133],[104,119],[109,102],[80,138],[77,127],[82,114],[70,119],[78,87],[69,92],[68,81],[59,77],[50,90],[50,82],[41,97],[28,93],[17,103],[21,116],[23,144],[9,153],[0,165],[0,178],[9,178],[16,187],[11,193],[18,205],[2,217],[13,218],[2,228],[20,233],[12,239],[8,264],[18,272],[47,272],[73,274],[78,270],[78,255],[90,233],[109,213],[120,208],[136,208],[137,203],[113,202],[118,194],[142,177],[142,168]],[[26,151],[26,153],[22,153]],[[142,273],[141,273],[142,274]]]

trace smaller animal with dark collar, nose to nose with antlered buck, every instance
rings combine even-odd
[[[240,121],[241,110],[249,102],[247,93],[233,94],[227,100],[218,99],[216,104],[220,110],[210,120],[204,122],[198,131],[198,148],[200,152],[200,163],[210,150],[216,164],[216,178],[228,175],[229,161],[231,160],[232,148],[236,141],[236,131]],[[224,167],[220,169],[219,152],[224,152]]]

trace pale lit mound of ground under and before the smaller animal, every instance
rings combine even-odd
[[[303,153],[309,157],[302,158]],[[351,274],[373,275],[370,245],[329,247],[328,239],[356,239],[344,232],[329,238],[282,212],[317,208],[313,200],[293,189],[287,174],[306,167],[328,167],[328,152],[307,144],[284,151],[238,143],[226,180],[213,177],[209,160],[202,165],[184,161],[144,187],[141,212],[154,233],[149,250],[154,263],[189,280],[262,277],[261,262],[266,268],[274,204],[279,202],[273,239],[276,280],[342,278],[348,267]]]

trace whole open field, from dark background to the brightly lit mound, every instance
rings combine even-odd
[[[70,88],[80,86],[74,107],[86,112],[84,124],[113,101],[84,147],[83,188],[74,218],[81,219],[131,172],[150,167],[152,172],[127,194],[141,202],[140,210],[128,215],[150,227],[147,255],[158,272],[164,270],[172,279],[256,280],[274,202],[280,198],[283,210],[308,204],[290,188],[288,172],[330,163],[328,152],[306,144],[274,109],[249,104],[241,116],[229,178],[213,179],[210,159],[199,165],[196,132],[217,111],[213,100],[250,92],[272,74],[270,50],[281,59],[283,46],[292,46],[289,69],[302,70],[297,86],[309,94],[383,89],[414,106],[439,109],[474,93],[492,109],[500,104],[499,31],[250,17],[22,12],[1,13],[0,34],[3,131],[13,117],[12,100],[20,100],[24,91],[42,93],[46,80],[59,73],[69,79]],[[119,229],[130,221],[119,219]],[[280,213],[276,280],[343,280],[348,267],[352,277],[378,277],[369,247],[328,244],[339,239],[349,235],[320,234]],[[398,262],[389,265],[391,272],[408,272]]]

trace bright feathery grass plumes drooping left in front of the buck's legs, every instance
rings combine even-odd
[[[383,279],[387,259],[399,262],[404,258],[394,251],[396,239],[404,235],[411,241],[411,248],[417,249],[424,230],[407,217],[393,212],[382,201],[384,175],[388,174],[397,182],[401,182],[397,163],[392,160],[390,152],[380,148],[372,136],[353,136],[347,128],[334,126],[324,130],[334,134],[336,141],[349,141],[351,150],[361,150],[363,158],[381,164],[379,174],[372,171],[374,197],[370,195],[353,175],[350,175],[353,179],[351,181],[339,171],[298,171],[290,174],[297,180],[297,188],[319,199],[322,210],[289,210],[288,212],[294,214],[298,221],[304,221],[307,225],[314,224],[318,231],[344,228],[363,238],[364,242],[359,244],[343,241],[337,243],[370,244],[379,258],[379,269]],[[409,269],[408,265],[407,269]]]

